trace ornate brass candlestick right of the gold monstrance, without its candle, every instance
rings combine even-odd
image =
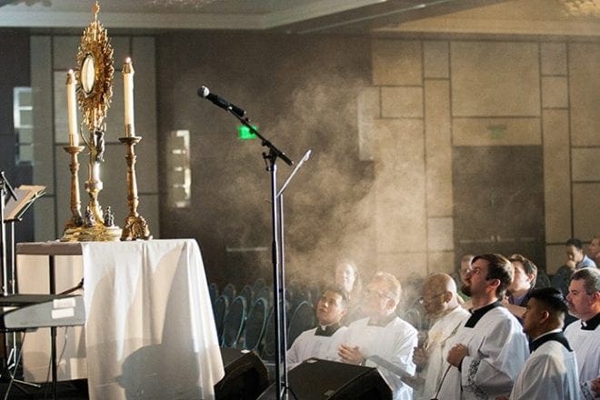
[[[129,206],[129,215],[125,218],[121,240],[152,239],[145,218],[137,212],[137,205],[139,205],[137,180],[135,178],[135,159],[137,156],[134,148],[140,140],[142,140],[141,136],[119,137],[119,141],[127,147],[125,160],[127,161],[127,205]]]

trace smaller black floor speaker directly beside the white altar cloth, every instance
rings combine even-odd
[[[216,400],[255,400],[269,385],[266,367],[247,350],[221,348],[225,377],[215,385]]]

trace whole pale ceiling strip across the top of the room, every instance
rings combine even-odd
[[[107,28],[600,35],[566,0],[101,0]],[[580,0],[577,0],[580,1]],[[94,0],[0,0],[0,27],[81,28]]]

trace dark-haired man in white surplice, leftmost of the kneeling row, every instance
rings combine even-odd
[[[340,325],[348,309],[348,294],[339,286],[325,289],[316,305],[318,326],[295,338],[287,351],[287,367],[294,368],[308,358],[338,361],[337,347],[342,344],[345,326]]]

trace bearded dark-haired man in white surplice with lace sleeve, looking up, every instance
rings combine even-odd
[[[442,383],[440,399],[494,399],[509,395],[529,354],[521,324],[500,299],[513,279],[513,265],[503,255],[477,255],[463,292],[473,301],[448,352],[453,365]]]

